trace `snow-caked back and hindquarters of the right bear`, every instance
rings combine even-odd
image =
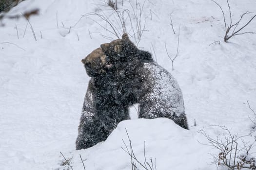
[[[182,92],[174,77],[156,62],[144,63],[143,75],[141,89],[150,90],[139,96],[139,118],[169,118],[188,129]]]

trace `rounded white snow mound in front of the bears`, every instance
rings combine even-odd
[[[106,141],[85,150],[63,154],[67,159],[71,158],[74,170],[83,169],[79,154],[86,170],[131,170],[131,158],[122,150],[126,149],[125,144],[130,149],[126,130],[134,153],[141,163],[144,162],[145,141],[146,159],[150,162],[150,158],[153,161],[156,158],[159,170],[170,170],[174,165],[176,168],[173,170],[196,169],[198,164],[202,170],[204,166],[208,167],[203,158],[209,157],[207,151],[210,148],[199,144],[191,131],[166,118],[124,120]],[[62,158],[59,162],[65,161]],[[65,165],[60,170],[67,168],[68,165]]]

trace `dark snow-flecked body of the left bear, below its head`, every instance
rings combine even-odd
[[[119,103],[113,83],[101,78],[93,77],[89,81],[80,118],[77,150],[104,141],[120,121],[130,119],[129,107]]]

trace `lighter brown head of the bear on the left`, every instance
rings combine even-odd
[[[101,48],[92,51],[81,62],[90,77],[104,75],[113,66]]]

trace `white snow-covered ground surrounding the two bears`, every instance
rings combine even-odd
[[[142,6],[144,1],[138,2]],[[226,1],[218,3],[228,16]],[[256,13],[255,0],[230,0],[230,6],[233,22],[246,11],[254,13],[245,20]],[[147,51],[154,47],[158,64],[177,79],[190,130],[169,119],[136,119],[132,108],[133,119],[121,122],[106,141],[75,151],[89,81],[80,61],[110,42],[101,34],[117,38],[95,22],[106,27],[97,16],[91,16],[95,21],[81,16],[90,12],[110,16],[113,10],[104,0],[25,0],[8,15],[35,8],[40,9],[39,15],[29,20],[37,41],[29,25],[24,34],[24,18],[3,19],[5,26],[0,27],[1,170],[67,170],[68,165],[61,166],[60,152],[71,159],[74,170],[83,169],[79,154],[86,170],[131,170],[130,157],[121,149],[122,139],[129,144],[125,128],[138,159],[144,160],[145,141],[146,156],[156,158],[158,170],[215,170],[209,153],[218,152],[200,144],[207,140],[198,132],[203,129],[216,137],[224,132],[213,125],[225,125],[239,136],[250,133],[249,116],[254,115],[247,101],[256,110],[256,34],[237,35],[225,43],[223,16],[211,0],[145,0],[141,21],[144,24],[147,17],[146,31],[138,47]],[[118,10],[122,9],[132,14],[128,0],[123,6],[118,0]],[[118,25],[117,20],[111,21]],[[179,25],[173,71],[165,43],[175,56]],[[244,31],[256,32],[255,28],[256,19]],[[220,44],[212,44],[215,41]],[[254,136],[246,140],[253,141]]]

